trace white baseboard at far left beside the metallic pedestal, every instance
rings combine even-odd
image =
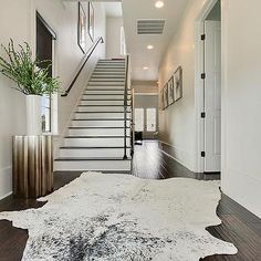
[[[12,167],[0,169],[0,200],[12,194]]]

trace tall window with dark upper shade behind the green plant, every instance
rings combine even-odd
[[[45,20],[36,12],[36,58],[45,61],[39,67],[49,69],[49,76],[54,76],[54,40],[56,34]],[[42,96],[42,132],[52,132],[52,95]]]

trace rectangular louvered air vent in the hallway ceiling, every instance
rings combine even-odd
[[[138,34],[163,34],[165,20],[163,19],[142,19],[137,21]]]

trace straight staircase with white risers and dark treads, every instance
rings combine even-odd
[[[97,62],[54,160],[55,171],[130,171],[130,91],[125,101],[125,60]]]

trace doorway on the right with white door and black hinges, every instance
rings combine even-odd
[[[199,171],[221,173],[221,4],[210,0],[198,22],[196,82]],[[199,80],[198,80],[199,79]]]

